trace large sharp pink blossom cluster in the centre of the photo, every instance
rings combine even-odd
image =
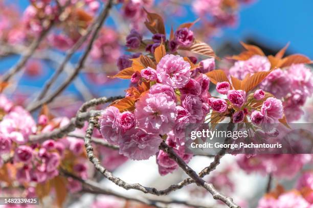
[[[206,61],[214,68],[214,59]],[[131,159],[148,159],[157,154],[160,173],[172,172],[178,166],[159,151],[159,145],[163,138],[189,161],[191,155],[184,153],[184,129],[189,123],[204,122],[209,112],[209,79],[202,73],[192,73],[183,57],[168,54],[156,70],[147,67],[134,73],[131,82],[138,86],[149,82],[149,90],[136,101],[133,111],[120,112],[114,105],[106,108],[99,118],[100,131],[108,142],[120,147],[121,154]],[[126,98],[132,96],[126,94]]]

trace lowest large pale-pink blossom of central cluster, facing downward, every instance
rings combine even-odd
[[[120,154],[130,159],[148,159],[159,151],[162,139],[159,134],[147,133],[143,129],[132,129],[119,143]]]

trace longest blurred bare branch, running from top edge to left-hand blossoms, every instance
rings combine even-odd
[[[48,104],[48,103],[52,102],[73,81],[73,79],[75,79],[75,77],[80,72],[81,68],[84,67],[85,60],[88,57],[88,55],[92,49],[93,43],[96,40],[96,37],[97,37],[97,35],[98,35],[102,25],[103,25],[103,22],[105,21],[106,17],[108,16],[110,8],[113,6],[112,2],[113,2],[113,0],[109,0],[106,4],[105,8],[101,12],[99,21],[97,22],[97,27],[94,30],[94,33],[91,36],[91,40],[88,43],[88,45],[85,49],[85,52],[82,55],[82,57],[80,58],[78,65],[76,66],[73,73],[51,95],[49,95],[46,98],[43,98],[40,101],[35,102],[33,105],[28,107],[28,110],[30,112],[33,112],[34,110],[38,109],[43,104]]]

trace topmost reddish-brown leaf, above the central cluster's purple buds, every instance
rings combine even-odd
[[[144,10],[147,13],[145,25],[148,30],[153,34],[160,33],[166,35],[163,18],[159,14],[148,12],[145,8]]]

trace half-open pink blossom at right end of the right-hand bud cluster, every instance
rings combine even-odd
[[[261,113],[264,115],[265,123],[275,123],[283,117],[282,102],[276,98],[267,98],[261,107]]]

